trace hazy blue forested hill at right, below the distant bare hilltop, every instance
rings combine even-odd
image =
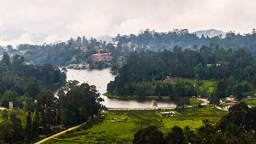
[[[199,38],[201,37],[201,38]],[[243,46],[250,50],[252,53],[256,51],[256,30],[253,29],[250,34],[240,34],[234,31],[227,32],[225,36],[214,36],[212,38],[208,36],[197,36],[191,34],[187,29],[178,30],[175,29],[169,32],[156,32],[146,29],[140,34],[130,34],[121,36],[118,34],[114,41],[119,41],[120,44],[127,44],[132,42],[136,44],[136,50],[172,50],[174,46],[178,45],[183,49],[192,48],[193,44],[197,44],[199,47],[212,44],[218,44],[223,48],[242,48]]]

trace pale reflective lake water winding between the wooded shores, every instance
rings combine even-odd
[[[62,68],[60,68],[61,70]],[[173,101],[168,99],[129,99],[129,98],[109,98],[102,94],[106,93],[107,84],[114,80],[116,74],[109,73],[110,68],[102,69],[86,69],[74,70],[67,69],[67,81],[78,80],[80,84],[88,83],[97,87],[101,97],[104,99],[104,104],[108,108],[153,108],[153,102],[158,102],[158,107],[176,106]],[[52,90],[56,95],[58,89]]]

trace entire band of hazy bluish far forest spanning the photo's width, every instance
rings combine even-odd
[[[222,38],[223,37],[223,38]],[[239,49],[246,47],[250,52],[254,54],[256,51],[256,30],[253,29],[250,34],[236,33],[234,31],[227,32],[225,36],[220,34],[209,38],[202,35],[201,38],[196,34],[190,34],[187,29],[173,30],[172,32],[155,32],[146,29],[139,34],[130,34],[121,36],[118,34],[112,39],[112,43],[97,40],[96,38],[90,38],[89,40],[83,36],[79,36],[74,40],[70,38],[66,43],[59,44],[20,44],[17,46],[17,50],[8,45],[8,52],[14,54],[20,54],[26,62],[34,62],[35,64],[53,63],[53,64],[67,64],[70,62],[73,56],[76,57],[76,63],[87,62],[92,64],[90,56],[97,53],[97,48],[102,48],[104,52],[111,52],[112,56],[125,56],[129,52],[141,50],[150,50],[157,52],[158,50],[173,50],[175,46],[180,46],[184,49],[193,49],[194,44],[201,48],[203,45],[210,46],[211,43],[217,44],[220,48],[228,50],[228,48]],[[117,42],[114,45],[113,42]],[[113,46],[114,45],[114,46]],[[80,48],[85,47],[86,50],[82,51]],[[0,54],[5,50],[0,48]]]

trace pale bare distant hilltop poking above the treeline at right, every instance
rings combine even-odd
[[[199,38],[201,38],[202,34],[204,34],[204,37],[209,36],[210,38],[214,36],[218,36],[219,34],[222,34],[224,38],[226,35],[226,32],[222,30],[215,30],[215,29],[210,29],[210,30],[198,30],[196,32],[191,32],[191,34],[196,34]]]

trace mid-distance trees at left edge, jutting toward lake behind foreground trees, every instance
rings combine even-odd
[[[16,55],[12,62],[5,52],[0,62],[0,106],[9,108],[12,101],[14,107],[23,108],[24,98],[36,99],[42,84],[64,84],[66,73],[50,63],[27,65],[23,56]]]

